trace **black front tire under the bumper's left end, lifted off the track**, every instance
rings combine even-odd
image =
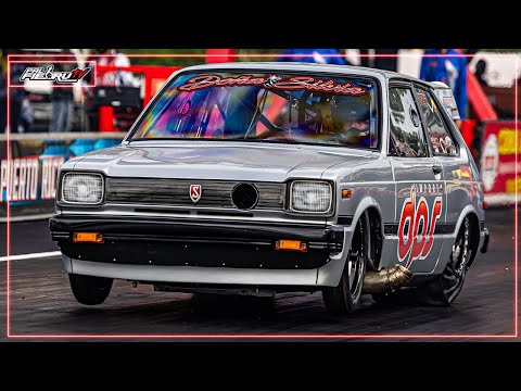
[[[68,275],[71,289],[76,300],[85,305],[98,305],[111,293],[113,278]]]

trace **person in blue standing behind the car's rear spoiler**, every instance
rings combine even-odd
[[[461,118],[467,116],[467,59],[458,49],[429,49],[421,59],[420,78],[450,87]],[[449,56],[446,56],[449,55]],[[459,56],[461,55],[461,56]]]

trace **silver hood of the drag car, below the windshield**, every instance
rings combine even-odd
[[[67,163],[75,169],[102,171],[114,177],[284,181],[290,177],[320,178],[335,164],[357,164],[371,154],[334,147],[142,141],[91,152]]]

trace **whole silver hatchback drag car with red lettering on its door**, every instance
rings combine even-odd
[[[87,305],[114,279],[321,291],[335,314],[404,290],[449,305],[490,237],[456,117],[447,86],[391,72],[187,67],[119,146],[63,164],[51,237]]]

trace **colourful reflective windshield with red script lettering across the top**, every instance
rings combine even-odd
[[[208,139],[378,146],[376,83],[278,73],[181,74],[131,140]]]

